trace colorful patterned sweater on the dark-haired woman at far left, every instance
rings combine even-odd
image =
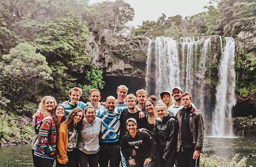
[[[55,159],[57,129],[54,120],[47,119],[39,129],[39,137],[34,155],[41,158]]]

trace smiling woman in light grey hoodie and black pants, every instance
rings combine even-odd
[[[83,130],[78,136],[78,162],[81,167],[88,167],[88,164],[89,167],[98,167],[102,120],[95,114],[94,107],[86,107]]]

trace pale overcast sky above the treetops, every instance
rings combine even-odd
[[[90,0],[90,3],[104,0]],[[109,0],[115,1],[115,0]],[[124,0],[135,10],[131,25],[141,25],[145,20],[157,20],[165,13],[167,17],[174,15],[191,16],[205,11],[204,6],[209,0]]]

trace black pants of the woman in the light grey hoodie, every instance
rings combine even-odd
[[[78,162],[80,167],[98,167],[99,163],[99,152],[96,154],[85,154],[84,152],[78,150]]]

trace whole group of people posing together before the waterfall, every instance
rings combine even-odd
[[[100,91],[91,89],[84,103],[74,87],[58,105],[44,96],[33,116],[34,167],[54,160],[56,167],[199,167],[204,118],[191,94],[175,86],[157,101],[144,89],[128,94],[125,85],[116,93],[100,102]]]

